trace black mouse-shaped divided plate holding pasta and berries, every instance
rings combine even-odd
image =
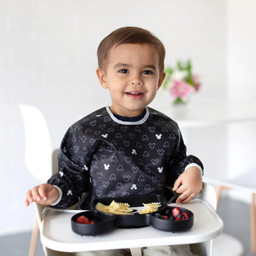
[[[142,207],[142,203],[161,203],[160,209],[150,214],[131,213],[131,215],[123,214],[108,214],[102,211],[93,209],[91,211],[82,211],[79,214],[73,215],[71,218],[71,228],[73,232],[81,235],[97,235],[105,232],[111,232],[116,228],[139,228],[142,226],[153,226],[155,229],[160,229],[166,232],[183,232],[191,229],[194,223],[194,214],[188,209],[179,207],[181,211],[188,214],[187,220],[163,220],[159,214],[165,214],[166,209],[173,209],[168,206],[167,201],[160,195],[147,196],[131,196],[118,198],[100,198],[95,200],[93,206],[100,202],[104,205],[109,205],[113,200],[117,203],[128,203],[130,208]],[[89,220],[94,220],[95,224],[80,224],[76,223],[76,219],[82,215],[88,217]]]

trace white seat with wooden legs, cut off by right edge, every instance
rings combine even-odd
[[[256,211],[255,211],[255,194],[256,194],[256,170],[252,168],[249,171],[229,180],[206,179],[206,182],[217,186],[217,206],[220,202],[221,192],[224,189],[234,189],[248,193],[251,196],[251,251],[256,253]]]

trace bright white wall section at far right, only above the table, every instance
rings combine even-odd
[[[255,99],[256,1],[227,1],[227,77],[229,98]]]

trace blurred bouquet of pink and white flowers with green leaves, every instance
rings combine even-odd
[[[174,105],[186,104],[191,93],[200,90],[199,76],[192,74],[191,61],[177,61],[175,68],[165,68],[165,80],[163,88],[171,93],[171,101]]]

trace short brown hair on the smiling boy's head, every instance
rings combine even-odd
[[[165,61],[165,47],[163,43],[148,30],[140,27],[121,27],[114,30],[100,42],[97,56],[99,68],[105,68],[108,62],[108,53],[112,47],[123,44],[148,44],[152,45],[160,57],[159,68],[163,72]]]

